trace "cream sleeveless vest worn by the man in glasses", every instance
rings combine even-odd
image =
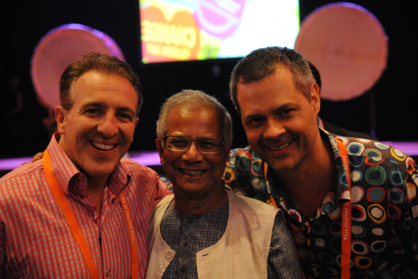
[[[196,254],[199,279],[267,278],[267,259],[274,218],[279,209],[256,199],[226,191],[229,199],[228,225],[222,238]],[[160,223],[173,195],[155,206],[148,228],[146,278],[160,279],[174,252],[162,239]],[[283,212],[281,212],[283,216]]]

